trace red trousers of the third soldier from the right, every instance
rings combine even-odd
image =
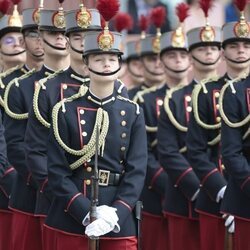
[[[167,218],[169,250],[200,250],[199,220],[172,215]]]

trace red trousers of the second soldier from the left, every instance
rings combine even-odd
[[[12,247],[12,250],[42,250],[39,217],[13,212]]]

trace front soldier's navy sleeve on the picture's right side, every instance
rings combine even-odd
[[[143,111],[137,116],[131,131],[130,144],[126,155],[125,174],[119,185],[113,207],[117,208],[119,224],[133,210],[139,200],[147,169],[147,142]]]

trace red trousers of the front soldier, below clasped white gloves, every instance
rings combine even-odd
[[[44,250],[88,250],[88,238],[70,235],[44,226]],[[136,237],[102,238],[100,250],[137,250]]]

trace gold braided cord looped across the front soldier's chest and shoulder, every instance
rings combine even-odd
[[[100,131],[98,148],[103,155],[104,147],[105,147],[105,140],[106,140],[106,136],[107,136],[108,129],[109,129],[109,115],[107,111],[103,110],[102,108],[98,108],[97,114],[96,114],[95,126],[94,126],[93,133],[91,135],[91,138],[88,144],[84,145],[83,148],[80,150],[75,150],[67,146],[62,140],[60,133],[59,133],[58,114],[59,114],[60,109],[62,109],[62,112],[63,112],[63,106],[65,105],[65,103],[72,102],[77,98],[79,98],[79,94],[75,94],[74,96],[63,99],[62,101],[58,102],[52,110],[52,126],[53,126],[54,135],[58,144],[67,153],[81,157],[76,162],[70,164],[70,168],[72,170],[82,166],[84,162],[89,160],[95,154],[97,129],[99,129]]]

